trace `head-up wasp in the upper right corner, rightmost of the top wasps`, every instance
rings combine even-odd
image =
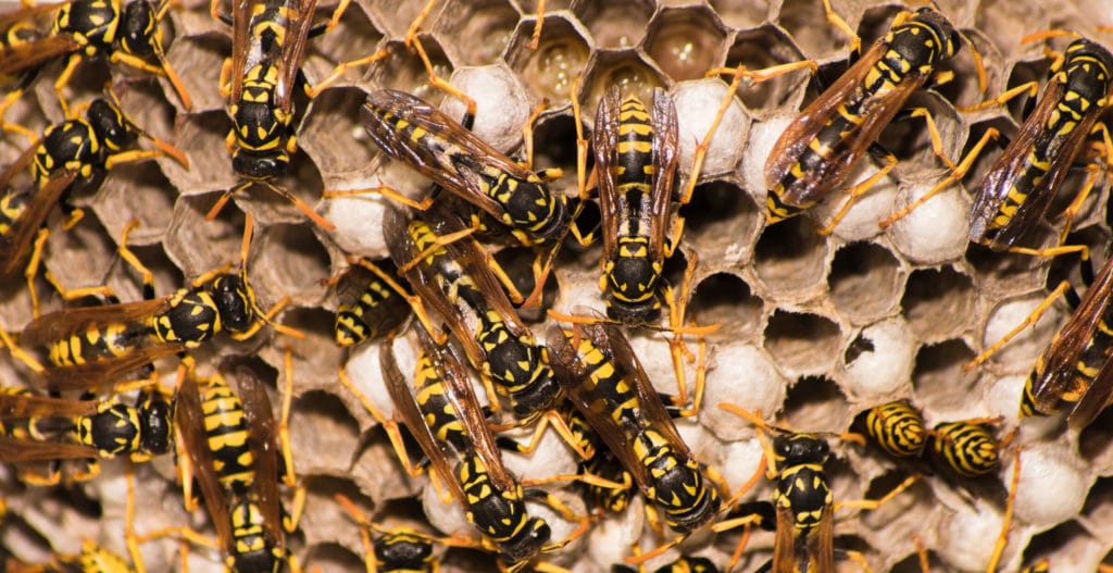
[[[974,196],[969,219],[974,243],[1004,250],[1043,217],[1109,106],[1113,56],[1105,48],[1080,38],[1057,63],[1038,103]],[[1035,85],[1018,88],[1034,90]]]

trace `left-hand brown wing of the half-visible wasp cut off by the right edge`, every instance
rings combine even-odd
[[[1043,373],[1032,385],[1032,398],[1042,412],[1051,412],[1060,396],[1077,376],[1082,352],[1094,337],[1094,332],[1113,298],[1113,257],[1105,261],[1094,283],[1074,314],[1052,340],[1043,355]],[[1103,368],[1104,371],[1104,368]]]

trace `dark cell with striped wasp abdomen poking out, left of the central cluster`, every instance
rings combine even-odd
[[[343,276],[338,294],[333,332],[336,345],[355,346],[393,333],[410,317],[410,304],[403,289],[392,276],[397,268],[391,260],[378,264],[359,259]]]

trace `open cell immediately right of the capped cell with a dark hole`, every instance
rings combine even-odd
[[[920,346],[912,383],[924,409],[949,409],[969,399],[962,391],[974,388],[978,373],[963,372],[963,365],[974,356],[974,350],[961,338]]]

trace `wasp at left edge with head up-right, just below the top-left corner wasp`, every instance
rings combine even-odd
[[[80,209],[65,201],[75,185],[90,181],[116,165],[151,157],[169,156],[188,166],[181,151],[145,134],[124,115],[115,95],[109,92],[109,96],[92,100],[85,119],[67,119],[45,129],[41,140],[0,174],[0,188],[4,189],[0,197],[0,276],[16,270],[55,205],[62,202],[70,216],[68,226],[80,220]],[[157,149],[127,150],[139,136],[150,139]],[[12,179],[27,167],[31,168],[31,188],[12,189]],[[33,276],[45,239],[46,236],[38,239],[26,271],[36,315]]]

